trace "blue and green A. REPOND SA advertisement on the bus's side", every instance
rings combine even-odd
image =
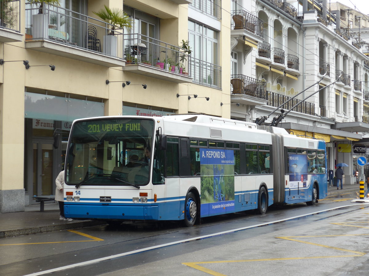
[[[201,216],[234,212],[234,153],[200,149]]]

